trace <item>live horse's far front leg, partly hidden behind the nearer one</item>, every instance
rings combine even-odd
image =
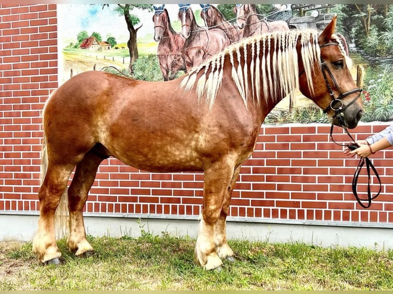
[[[226,258],[229,261],[235,261],[233,258],[233,251],[229,247],[227,240],[226,240],[226,218],[229,213],[229,204],[230,199],[233,192],[233,187],[238,179],[240,172],[240,166],[237,167],[232,176],[232,180],[228,186],[227,191],[225,191],[224,201],[221,208],[221,214],[217,223],[215,223],[215,230],[214,230],[214,243],[217,246],[217,252],[220,258]]]

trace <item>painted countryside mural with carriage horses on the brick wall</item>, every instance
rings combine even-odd
[[[57,9],[61,83],[88,70],[170,80],[243,37],[321,30],[338,14],[338,32],[355,64],[352,76],[358,76],[369,108],[364,119],[393,118],[393,5],[59,4]],[[301,107],[285,98],[266,123],[327,122],[309,99],[298,93],[295,100]]]

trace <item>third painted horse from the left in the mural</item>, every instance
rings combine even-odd
[[[228,36],[231,43],[236,43],[243,37],[243,32],[235,24],[229,23],[225,16],[216,7],[210,4],[200,4],[202,7],[201,18],[207,28],[222,29]]]

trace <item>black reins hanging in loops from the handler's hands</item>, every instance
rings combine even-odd
[[[336,143],[339,146],[346,146],[349,150],[355,150],[357,148],[359,148],[359,145],[355,142],[355,140],[352,138],[351,134],[349,134],[347,128],[343,127],[345,133],[351,138],[351,140],[353,141],[353,143],[350,144],[339,144],[337,143],[334,139],[333,139],[333,124],[331,124],[330,127],[330,139]],[[367,169],[367,199],[364,198],[360,198],[358,195],[358,190],[357,190],[357,186],[358,186],[358,179],[359,179],[359,175],[360,172],[362,170],[362,167],[364,165],[364,163],[366,164],[366,169]],[[375,196],[371,195],[371,187],[370,187],[370,181],[371,181],[371,171],[374,172],[374,175],[376,176],[378,183],[379,183],[379,191]],[[375,198],[378,197],[378,195],[381,193],[381,188],[382,188],[382,184],[381,184],[381,179],[379,177],[379,174],[374,166],[374,164],[372,164],[371,160],[368,159],[368,157],[360,157],[358,166],[356,167],[356,171],[355,174],[353,175],[353,179],[352,179],[352,193],[353,195],[355,195],[356,201],[358,201],[359,205],[362,206],[363,208],[368,208],[371,205],[371,200],[374,200]],[[367,204],[363,204],[362,201],[367,201]]]

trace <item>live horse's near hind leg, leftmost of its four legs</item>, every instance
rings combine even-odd
[[[44,263],[59,263],[61,252],[56,245],[54,213],[74,166],[49,163],[45,179],[38,192],[40,218],[33,238],[33,251]]]

